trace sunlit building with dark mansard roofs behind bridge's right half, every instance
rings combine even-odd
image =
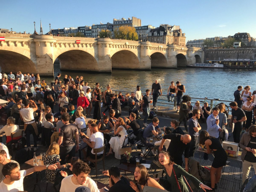
[[[174,44],[186,46],[185,33],[182,33],[180,26],[162,24],[148,33],[148,41],[159,44]]]

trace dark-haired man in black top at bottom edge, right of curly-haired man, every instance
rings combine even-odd
[[[104,176],[109,177],[109,192],[116,192],[122,189],[122,192],[134,192],[130,186],[130,182],[123,176],[120,175],[120,170],[116,166],[110,167],[109,170],[103,170]],[[100,189],[100,192],[105,192],[104,188]]]

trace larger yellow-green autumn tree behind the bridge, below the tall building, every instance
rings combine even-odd
[[[114,31],[115,38],[126,40],[138,40],[136,29],[130,26],[121,26]]]

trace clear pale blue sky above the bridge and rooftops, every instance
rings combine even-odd
[[[178,25],[186,34],[186,41],[237,32],[256,38],[255,0],[2,0],[1,7],[0,28],[16,32],[33,33],[33,22],[39,32],[40,19],[47,33],[49,24],[51,29],[61,29],[113,23],[113,18],[135,16],[141,19],[141,25]]]

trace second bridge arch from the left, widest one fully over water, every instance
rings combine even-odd
[[[99,71],[98,62],[93,55],[82,50],[68,50],[55,57],[60,63],[60,70]]]

